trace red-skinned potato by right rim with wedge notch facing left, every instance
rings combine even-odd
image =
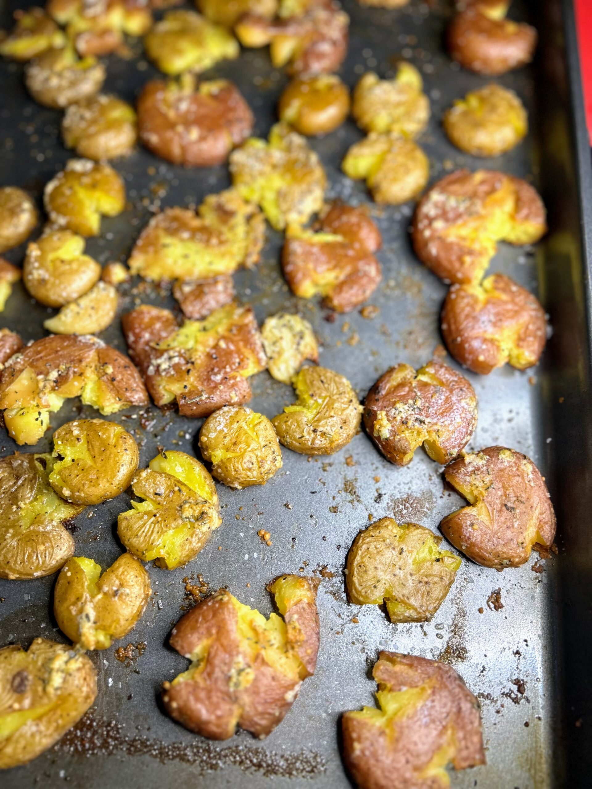
[[[550,548],[555,512],[545,480],[526,455],[504,447],[466,454],[444,469],[444,479],[470,507],[440,523],[444,537],[483,567],[519,567],[530,551]]]

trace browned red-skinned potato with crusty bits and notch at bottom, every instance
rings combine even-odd
[[[458,372],[433,359],[417,372],[410,365],[380,376],[365,400],[364,424],[384,457],[407,466],[418,447],[448,463],[477,427],[477,398]]]

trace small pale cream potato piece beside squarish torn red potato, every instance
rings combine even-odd
[[[309,359],[319,361],[319,346],[313,327],[299,315],[279,312],[265,320],[261,327],[265,355],[268,357],[270,376],[282,383],[292,383],[292,378]]]

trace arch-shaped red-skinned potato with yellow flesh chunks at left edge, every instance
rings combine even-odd
[[[50,426],[50,413],[78,396],[103,416],[148,405],[144,383],[129,359],[92,336],[36,340],[0,372],[0,409],[18,444],[37,443]]]

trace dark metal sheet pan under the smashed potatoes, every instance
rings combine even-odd
[[[549,208],[549,235],[536,249],[504,246],[492,271],[507,272],[537,292],[549,311],[553,336],[542,364],[520,373],[511,368],[486,378],[469,374],[479,398],[479,424],[470,447],[493,443],[529,454],[543,473],[556,503],[560,554],[541,574],[531,567],[497,573],[463,562],[448,599],[431,623],[394,626],[371,606],[347,603],[343,562],[358,529],[369,515],[392,515],[437,529],[440,518],[459,506],[444,492],[440,469],[422,454],[404,469],[386,462],[360,433],[350,446],[329,458],[309,459],[284,452],[284,466],[264,488],[233,492],[218,486],[223,526],[188,567],[167,572],[148,567],[155,595],[131,641],[148,649],[133,664],[114,659],[114,649],[93,653],[99,672],[96,705],[57,746],[24,768],[2,775],[6,789],[47,787],[347,787],[339,758],[338,720],[346,709],[372,703],[375,688],[368,669],[380,649],[396,649],[448,660],[481,699],[488,765],[454,774],[454,787],[531,789],[590,786],[590,580],[592,549],[588,524],[592,511],[592,404],[590,403],[590,172],[585,144],[575,28],[571,3],[559,0],[516,4],[538,25],[541,43],[534,66],[502,77],[521,95],[530,112],[524,144],[500,159],[477,160],[459,153],[440,127],[443,110],[456,97],[483,83],[448,60],[442,33],[448,9],[439,2],[412,0],[399,11],[362,9],[344,2],[351,16],[350,50],[341,69],[353,86],[358,75],[376,69],[392,73],[392,58],[410,58],[422,70],[433,117],[420,142],[429,155],[432,180],[444,169],[489,166],[531,178]],[[3,3],[4,24],[13,5]],[[155,73],[133,43],[134,57],[108,58],[107,89],[133,101]],[[21,185],[40,200],[43,185],[69,158],[59,139],[59,114],[32,103],[24,91],[21,66],[0,65],[0,178]],[[257,133],[275,121],[275,103],[286,77],[272,69],[265,50],[242,53],[238,62],[212,70],[238,84],[257,115]],[[369,202],[363,185],[340,173],[348,146],[361,134],[352,122],[313,140],[328,170],[329,196]],[[105,263],[125,260],[151,211],[196,204],[228,183],[225,166],[183,170],[138,151],[116,163],[126,178],[131,207],[103,223],[103,234],[88,251]],[[412,206],[379,209],[371,204],[384,235],[380,260],[384,282],[371,302],[374,320],[358,312],[335,323],[313,302],[299,302],[283,282],[278,259],[281,239],[271,230],[261,264],[236,277],[238,294],[253,304],[260,320],[280,309],[298,310],[323,342],[321,363],[343,372],[361,397],[384,370],[399,361],[422,365],[440,342],[438,312],[445,286],[414,259],[407,226]],[[23,249],[9,253],[20,262]],[[137,301],[172,305],[155,290],[130,289],[122,312]],[[2,315],[2,325],[24,338],[43,335],[46,310],[20,286]],[[121,350],[118,322],[104,333]],[[262,373],[253,382],[253,406],[268,416],[290,401],[288,387]],[[564,398],[559,402],[559,398]],[[92,409],[68,403],[53,418],[58,427]],[[136,432],[144,465],[156,444],[195,450],[200,422],[150,408],[114,417]],[[36,450],[51,447],[49,436]],[[0,452],[16,447],[0,436]],[[354,465],[348,465],[347,458]],[[351,463],[351,461],[350,461]],[[380,481],[375,481],[380,477]],[[118,512],[128,498],[93,508],[78,518],[77,553],[103,567],[121,552],[115,536]],[[329,507],[338,507],[333,513]],[[261,543],[258,529],[272,534]],[[243,602],[270,611],[265,584],[284,571],[324,571],[319,608],[321,645],[317,674],[265,742],[245,732],[230,742],[211,743],[175,725],[156,701],[160,682],[186,662],[167,646],[171,626],[182,615],[186,575],[202,574],[212,589],[228,585]],[[51,614],[54,578],[0,581],[0,644],[28,643],[38,635],[63,640]],[[501,589],[504,608],[486,601]],[[479,609],[483,613],[479,613]],[[358,623],[352,622],[357,618]],[[130,639],[122,641],[126,644]],[[523,693],[520,692],[523,690]]]

